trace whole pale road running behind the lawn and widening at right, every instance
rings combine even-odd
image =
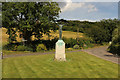
[[[66,51],[67,53],[70,52],[79,52],[84,51],[88,54],[94,55],[96,57],[111,61],[113,63],[118,64],[118,57],[115,57],[113,54],[107,52],[108,46],[101,46],[97,48],[90,48],[90,49],[83,49],[83,50],[75,50],[75,51]],[[19,56],[29,56],[29,55],[44,55],[44,54],[54,54],[55,52],[44,52],[44,53],[26,53],[26,54],[14,54],[14,55],[4,55],[3,58],[8,57],[19,57]],[[120,62],[119,62],[120,63]]]

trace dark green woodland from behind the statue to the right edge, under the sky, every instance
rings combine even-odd
[[[82,32],[91,37],[96,43],[112,41],[112,32],[120,21],[117,19],[103,19],[99,22],[67,21],[63,30]]]

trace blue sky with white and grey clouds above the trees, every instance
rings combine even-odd
[[[118,2],[77,2],[65,0],[59,2],[61,13],[59,19],[99,21],[118,18]]]

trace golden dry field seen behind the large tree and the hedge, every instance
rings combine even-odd
[[[8,43],[8,35],[6,34],[6,32],[7,32],[7,29],[5,29],[5,28],[0,28],[0,30],[2,30],[2,35],[0,35],[0,37],[2,36],[2,44],[3,45],[5,45],[5,44],[7,44]],[[77,32],[72,32],[72,31],[62,31],[63,32],[63,37],[66,37],[66,38],[77,38],[77,37],[84,37],[84,34],[83,33],[77,33]],[[19,35],[19,33],[17,33],[18,35]],[[51,32],[50,33],[50,35],[51,35],[51,37],[50,37],[50,39],[54,39],[55,37],[59,37],[59,32],[58,32],[58,30],[56,31],[56,32]],[[35,39],[35,37],[34,36],[32,36],[32,40],[34,40]],[[44,40],[48,40],[49,39],[49,37],[47,36],[47,35],[43,35],[43,38],[41,38],[41,39],[44,39]],[[22,38],[19,38],[19,37],[17,37],[17,41],[18,42],[21,42],[21,40],[22,40]]]

